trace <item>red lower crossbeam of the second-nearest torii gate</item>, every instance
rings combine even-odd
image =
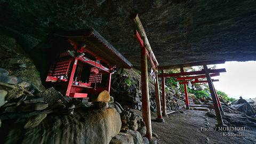
[[[209,69],[208,73],[213,74],[213,73],[225,73],[226,69],[221,68],[221,69]],[[199,70],[199,71],[190,71],[190,72],[184,72],[184,73],[171,73],[171,74],[161,74],[159,77],[175,77],[175,76],[187,76],[187,75],[202,75],[205,74],[204,70]]]

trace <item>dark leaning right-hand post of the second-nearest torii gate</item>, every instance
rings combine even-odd
[[[211,79],[211,76],[209,74],[209,69],[207,68],[206,65],[204,65],[204,71],[205,71],[205,75],[206,75],[207,82],[208,82],[208,85],[209,85],[210,93],[212,95],[212,101],[213,101],[215,114],[216,114],[217,121],[218,121],[218,124],[216,126],[217,127],[218,126],[223,126],[223,120],[222,120],[222,116],[220,114],[220,108],[219,108],[218,102],[217,102],[217,95],[215,94],[215,91],[214,91],[214,88],[213,88],[213,85],[212,85],[212,79]]]

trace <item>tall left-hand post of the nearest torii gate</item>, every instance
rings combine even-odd
[[[148,91],[148,66],[147,66],[147,54],[146,49],[141,49],[141,99],[142,99],[142,117],[146,124],[146,137],[152,139],[151,130],[151,114],[150,114],[150,102],[149,102],[149,91]]]

